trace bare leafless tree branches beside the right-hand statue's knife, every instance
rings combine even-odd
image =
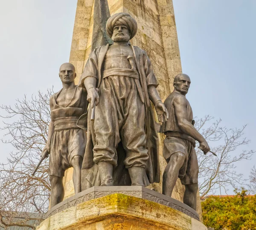
[[[242,174],[236,172],[236,162],[243,159],[250,159],[253,150],[239,151],[239,147],[247,145],[249,140],[244,137],[244,125],[241,129],[228,129],[221,127],[221,119],[212,123],[214,117],[205,116],[196,119],[195,128],[204,136],[209,143],[213,156],[208,153],[206,156],[202,151],[196,148],[199,165],[199,192],[201,196],[207,196],[208,193],[215,193],[220,187],[227,190],[227,186],[236,188],[242,185],[244,180]]]

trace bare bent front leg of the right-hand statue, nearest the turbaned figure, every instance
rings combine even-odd
[[[185,154],[181,152],[173,153],[163,172],[163,194],[172,196],[172,190],[177,182],[179,170],[185,161]]]

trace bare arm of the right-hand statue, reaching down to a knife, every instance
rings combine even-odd
[[[186,112],[186,105],[187,101],[186,98],[183,96],[175,97],[174,101],[174,108],[175,108],[175,116],[177,118],[177,123],[181,131],[186,133],[187,135],[193,137],[200,143],[201,149],[204,153],[207,153],[210,148],[207,144],[207,141],[204,137],[195,129],[195,127],[187,120],[187,112]]]

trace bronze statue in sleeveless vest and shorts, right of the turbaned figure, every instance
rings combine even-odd
[[[204,154],[210,148],[194,127],[192,108],[186,99],[190,83],[188,75],[178,74],[173,82],[174,91],[164,102],[169,119],[162,125],[162,132],[166,134],[163,156],[167,162],[163,173],[163,194],[172,196],[172,190],[179,177],[185,185],[183,202],[196,210],[198,159],[195,153],[195,140],[199,142],[199,148]]]

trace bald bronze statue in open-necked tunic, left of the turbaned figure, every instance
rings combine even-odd
[[[76,70],[71,63],[60,67],[59,77],[63,88],[50,97],[51,122],[47,145],[42,155],[49,157],[51,207],[63,200],[63,176],[73,167],[75,193],[81,192],[81,165],[86,146],[86,124],[79,128],[79,117],[87,112],[87,93],[75,85]],[[86,119],[85,119],[86,120]]]

